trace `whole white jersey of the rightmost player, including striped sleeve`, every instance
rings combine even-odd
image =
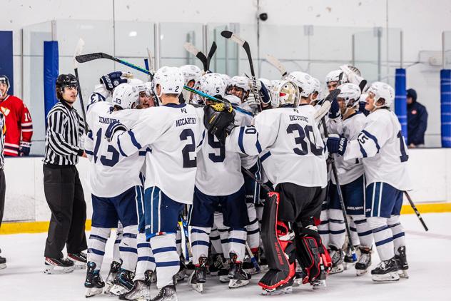
[[[399,190],[410,190],[407,146],[395,113],[385,108],[367,116],[358,138],[349,141],[345,160],[363,158],[367,185],[384,182]]]

